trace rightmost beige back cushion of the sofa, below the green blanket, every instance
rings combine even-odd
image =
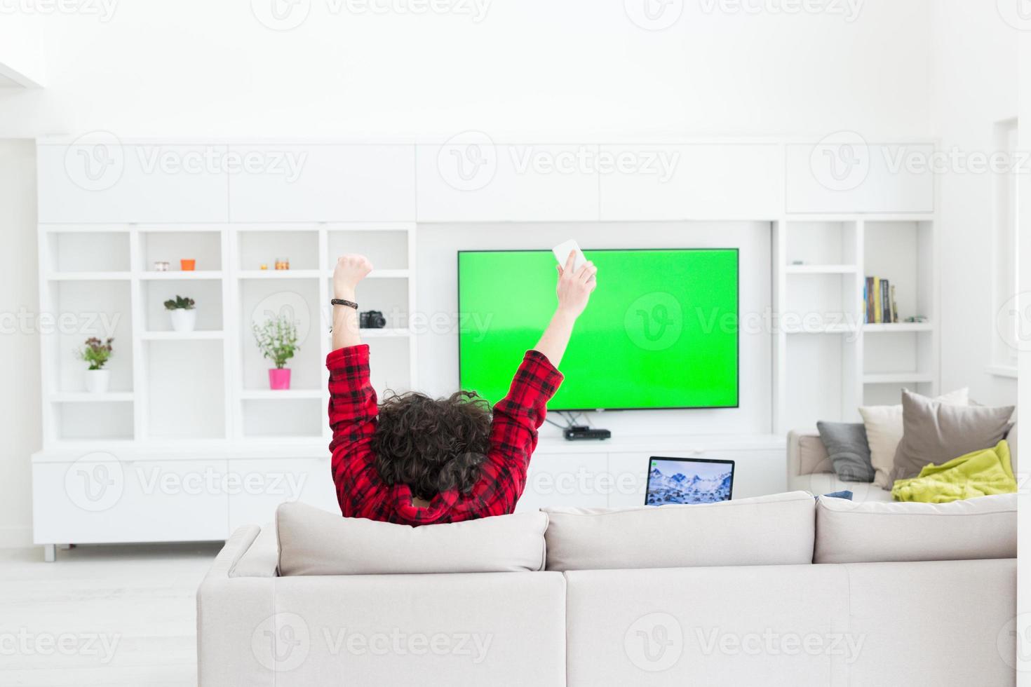
[[[949,504],[817,504],[813,562],[970,560],[1017,556],[1017,494]]]

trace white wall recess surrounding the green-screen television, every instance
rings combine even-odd
[[[768,222],[537,222],[420,225],[418,272],[424,276],[419,281],[419,310],[430,318],[435,313],[454,317],[459,249],[540,248],[570,237],[585,248],[739,248],[742,322],[754,321],[751,315],[770,307]],[[426,275],[440,276],[431,279]],[[510,287],[518,288],[518,284]],[[768,333],[742,331],[737,409],[592,413],[593,423],[619,436],[769,433],[771,345]],[[453,332],[420,337],[419,370],[420,386],[428,393],[444,396],[458,388],[458,340]],[[558,430],[545,425],[542,434],[558,436]]]

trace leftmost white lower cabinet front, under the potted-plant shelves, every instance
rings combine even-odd
[[[226,460],[86,454],[32,469],[37,544],[218,541],[229,537]]]

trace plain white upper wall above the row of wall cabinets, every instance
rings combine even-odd
[[[476,0],[478,23],[300,0],[310,12],[290,31],[257,21],[252,8],[271,2],[105,0],[110,16],[47,16],[47,88],[0,96],[0,136],[876,138],[922,133],[929,118],[931,0],[820,14],[672,2],[684,13],[662,31],[629,19],[643,0]],[[850,4],[854,21],[833,13]]]

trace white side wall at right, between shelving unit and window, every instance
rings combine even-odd
[[[932,133],[944,150],[991,152],[992,124],[1018,113],[1020,32],[996,3],[969,0],[937,0],[932,26]],[[1016,403],[1017,381],[986,371],[996,336],[992,175],[951,169],[938,182],[942,388],[969,386],[980,403]]]

